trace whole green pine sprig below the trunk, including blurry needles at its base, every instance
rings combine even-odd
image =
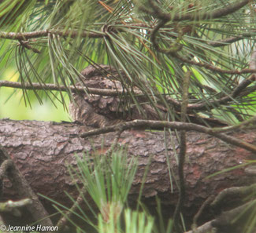
[[[92,159],[89,155],[83,155],[83,158],[77,157],[77,165],[79,172],[72,167],[70,172],[74,181],[78,178],[83,182],[84,189],[98,206],[98,223],[94,224],[92,218],[83,213],[80,208],[83,216],[80,213],[73,214],[91,224],[99,233],[152,232],[154,218],[143,212],[132,211],[125,204],[137,169],[135,158],[128,160],[126,152],[120,150],[113,152],[111,156],[96,153]],[[80,187],[77,186],[77,188],[80,195],[83,196],[83,191]],[[70,198],[72,199],[72,197]],[[87,198],[83,196],[83,200],[91,209],[92,216],[96,217],[96,213],[87,202]],[[61,206],[57,202],[55,204]],[[67,209],[65,206],[61,207]],[[56,208],[67,217],[61,209],[57,206]],[[67,218],[69,219],[69,217]],[[123,221],[124,226],[121,225]],[[86,229],[77,228],[77,232],[86,232]]]

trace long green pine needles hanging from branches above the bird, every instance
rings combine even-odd
[[[13,44],[12,40],[4,43],[7,53],[2,54],[2,60],[9,58],[10,64],[16,61],[21,82],[64,85],[70,94],[69,86],[79,79],[79,71],[87,64],[112,64],[124,70],[132,85],[138,86],[147,96],[148,103],[155,107],[157,101],[161,102],[173,118],[176,111],[164,96],[180,101],[184,72],[191,70],[189,104],[206,103],[206,108],[195,114],[238,122],[256,111],[255,90],[250,91],[253,85],[244,90],[248,94],[229,100],[227,106],[216,102],[221,96],[230,96],[236,86],[248,78],[247,74],[225,71],[248,67],[256,18],[250,4],[233,13],[201,19],[205,13],[228,9],[236,1],[180,0],[176,4],[159,1],[154,5],[148,1],[126,0],[31,2],[24,7],[17,30],[47,30],[50,33],[30,39],[27,47],[17,42]],[[15,16],[14,5],[6,9],[3,4],[6,1],[2,7]],[[168,13],[170,20],[155,31],[153,39],[151,33],[161,22],[160,13],[154,13],[154,9]],[[179,13],[190,14],[194,20],[172,20]],[[11,21],[7,31],[14,25]],[[229,38],[239,39],[222,42]],[[176,53],[161,53],[161,49],[168,50],[173,45],[180,48]],[[39,53],[35,53],[35,49]],[[182,62],[179,57],[191,63]],[[124,79],[121,82],[128,89],[130,84]],[[39,103],[45,102],[42,96],[34,93]],[[23,94],[29,102],[31,94],[26,91]],[[56,102],[52,93],[44,94],[46,99]],[[160,94],[164,96],[159,99],[156,96]],[[134,93],[129,95],[139,107]],[[58,100],[65,103],[63,96],[58,96]]]

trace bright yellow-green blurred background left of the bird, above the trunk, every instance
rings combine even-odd
[[[0,79],[17,82],[19,74],[15,67],[9,66],[7,69],[2,68]],[[38,120],[38,121],[71,121],[69,113],[63,104],[54,101],[54,104],[46,97],[42,97],[43,104],[35,97],[32,91],[28,91],[29,101],[24,101],[22,90],[7,87],[0,88],[0,118],[10,118],[14,120]],[[59,96],[58,93],[56,93]],[[69,96],[65,96],[65,104],[69,107]]]

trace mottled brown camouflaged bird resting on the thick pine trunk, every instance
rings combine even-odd
[[[76,83],[76,86],[120,90],[123,89],[123,86],[118,79],[121,80],[120,78],[122,78],[128,83],[124,71],[117,72],[108,65],[100,65],[97,68],[89,66],[81,71],[81,75],[81,80]],[[139,91],[137,87],[132,89]],[[142,96],[136,98],[137,103],[139,103],[139,110],[132,97],[127,93],[119,96],[100,96],[77,92],[72,93],[72,96],[69,114],[73,120],[82,122],[87,126],[102,128],[135,119],[158,120],[161,118],[159,112],[147,104],[147,100]]]

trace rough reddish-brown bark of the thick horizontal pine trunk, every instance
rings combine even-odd
[[[87,139],[79,137],[87,128],[69,122],[0,121],[0,144],[6,148],[11,158],[28,180],[36,193],[46,195],[70,206],[68,191],[76,198],[77,191],[69,177],[67,166],[76,166],[76,154],[83,151],[89,154],[103,153],[115,138],[115,133],[94,136]],[[143,174],[150,159],[149,172],[143,188],[143,198],[153,203],[156,195],[168,206],[175,206],[178,197],[175,179],[175,149],[179,151],[176,138],[167,133],[165,150],[164,132],[126,131],[118,142],[128,147],[129,156],[139,157],[139,169],[131,191],[131,200],[139,193]],[[233,136],[256,143],[256,132],[236,132]],[[102,140],[104,146],[102,147]],[[93,144],[93,145],[92,145]],[[173,185],[170,184],[166,158],[173,170]],[[232,166],[238,166],[246,159],[254,158],[250,151],[232,147],[221,140],[206,134],[187,133],[187,162],[184,167],[187,185],[187,209],[198,208],[209,195],[217,194],[226,187],[252,184],[254,176],[249,176],[244,167],[221,173],[210,179],[210,174]],[[15,189],[8,180],[4,183],[2,200],[17,198]],[[155,202],[154,202],[155,203]],[[193,208],[193,209],[194,209]],[[194,211],[195,211],[194,209]]]

